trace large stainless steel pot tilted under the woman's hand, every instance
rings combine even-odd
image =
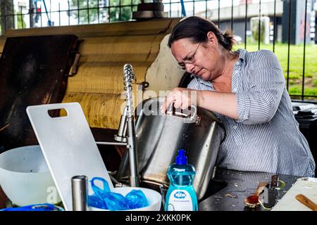
[[[194,165],[194,189],[200,200],[207,191],[216,163],[218,149],[225,137],[223,124],[209,110],[192,107],[186,112],[171,109],[162,114],[164,98],[151,98],[137,106],[137,160],[142,183],[168,186],[168,166],[183,148],[189,164]],[[117,173],[117,179],[127,181],[128,152]]]

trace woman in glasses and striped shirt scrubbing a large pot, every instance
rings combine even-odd
[[[175,88],[166,96],[162,112],[170,103],[182,109],[196,103],[216,113],[226,130],[219,167],[314,176],[315,162],[292,113],[275,54],[232,51],[233,43],[229,32],[222,34],[199,17],[175,25],[168,46],[194,79],[187,89]]]

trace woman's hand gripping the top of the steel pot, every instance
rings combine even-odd
[[[187,109],[190,105],[198,105],[197,95],[199,91],[177,87],[173,89],[161,106],[161,112],[165,113],[168,105],[174,103],[175,108]]]

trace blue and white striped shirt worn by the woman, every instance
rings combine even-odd
[[[278,58],[267,50],[237,53],[231,90],[237,95],[239,119],[216,113],[226,131],[218,167],[314,176],[316,165],[294,118]],[[215,91],[211,81],[195,75],[187,88]]]

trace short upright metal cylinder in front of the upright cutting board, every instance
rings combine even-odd
[[[88,211],[88,186],[87,176],[73,176],[72,194],[73,194],[73,211]]]

